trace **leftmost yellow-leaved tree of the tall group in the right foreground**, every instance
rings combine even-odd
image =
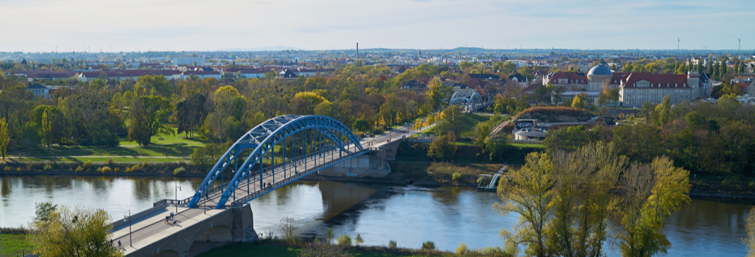
[[[550,229],[548,216],[553,210],[553,163],[544,153],[527,155],[526,163],[519,170],[509,173],[509,179],[498,183],[500,203],[495,209],[502,215],[519,214],[519,222],[513,233],[501,229],[501,237],[507,243],[524,244],[525,255],[547,256],[547,230]]]

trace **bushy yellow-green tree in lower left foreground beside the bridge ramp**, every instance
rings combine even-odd
[[[110,244],[110,216],[105,210],[60,206],[45,220],[32,222],[35,253],[48,257],[123,256]]]

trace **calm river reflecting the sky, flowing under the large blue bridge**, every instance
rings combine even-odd
[[[122,219],[131,210],[176,197],[190,197],[199,178],[98,176],[0,177],[0,226],[26,225],[34,203],[49,201],[106,210]],[[174,188],[180,187],[179,191]],[[453,251],[461,243],[470,248],[501,246],[501,228],[513,228],[514,215],[501,216],[492,207],[494,193],[472,188],[422,188],[339,182],[294,182],[251,201],[257,233],[279,233],[282,217],[300,223],[304,236],[314,237],[333,228],[338,236],[362,234],[365,244],[419,248],[431,240],[439,249]],[[745,255],[741,237],[750,202],[695,199],[673,213],[664,226],[672,243],[670,256]],[[609,256],[618,255],[608,252]]]

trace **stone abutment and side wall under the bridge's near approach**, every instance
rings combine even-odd
[[[250,206],[214,211],[219,212],[181,222],[177,225],[177,231],[155,234],[153,237],[159,238],[157,240],[146,238],[135,243],[134,248],[126,246],[126,256],[189,257],[192,246],[202,243],[251,243],[259,239],[254,231],[254,216]]]

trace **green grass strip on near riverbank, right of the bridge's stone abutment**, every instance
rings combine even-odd
[[[211,249],[208,252],[197,255],[198,257],[231,257],[231,256],[245,256],[245,257],[257,257],[257,256],[270,256],[270,257],[296,257],[301,252],[301,249],[291,248],[286,246],[271,246],[271,245],[254,245],[254,244],[232,244],[228,246],[220,246],[215,249]],[[424,256],[424,255],[395,255],[390,253],[379,252],[362,252],[351,251],[351,254],[355,257],[411,257],[411,256]],[[439,255],[433,255],[439,256]]]

